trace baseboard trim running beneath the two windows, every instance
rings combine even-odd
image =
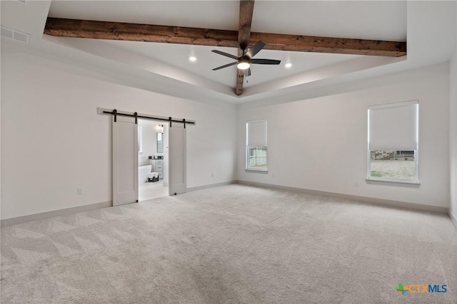
[[[361,201],[364,203],[393,206],[393,207],[402,208],[402,209],[413,209],[413,210],[419,210],[419,211],[435,212],[435,213],[440,213],[440,214],[448,214],[448,210],[449,210],[446,207],[414,204],[414,203],[408,203],[406,201],[392,201],[389,199],[376,199],[376,198],[368,197],[368,196],[357,196],[357,195],[341,194],[341,193],[335,193],[335,192],[324,192],[324,191],[319,191],[319,190],[279,186],[276,184],[263,184],[263,183],[258,183],[258,182],[248,182],[248,181],[241,181],[241,180],[238,180],[236,182],[238,184],[247,184],[247,185],[256,186],[256,187],[267,187],[267,188],[281,189],[281,190],[287,190],[287,191],[304,192],[304,193],[308,193],[308,194],[331,196],[331,197],[337,197],[340,199],[351,199],[353,201]]]

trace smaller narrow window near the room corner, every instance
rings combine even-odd
[[[266,120],[246,122],[246,170],[267,171]]]

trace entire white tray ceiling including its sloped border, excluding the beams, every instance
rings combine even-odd
[[[128,85],[168,95],[239,103],[278,96],[287,99],[291,93],[301,98],[305,91],[323,85],[447,61],[456,47],[455,1],[257,0],[251,31],[408,41],[408,60],[262,50],[256,58],[278,59],[281,65],[253,65],[243,95],[236,96],[236,68],[211,70],[232,62],[212,53],[214,47],[42,34],[48,15],[236,30],[238,5],[238,1],[1,1],[1,25],[32,35],[29,46],[1,38],[1,51],[27,51],[71,61],[96,71],[99,78],[119,83],[128,79]],[[217,49],[237,53],[235,48]],[[190,62],[189,56],[196,56],[197,61]],[[285,63],[293,65],[285,68]]]

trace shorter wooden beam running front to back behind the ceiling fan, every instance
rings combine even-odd
[[[240,1],[240,16],[238,19],[238,46],[241,43],[249,43],[251,36],[252,15],[254,11],[253,0]],[[243,56],[243,51],[238,47],[238,57]],[[235,94],[241,95],[243,93],[244,72],[239,68],[236,69],[236,88]]]

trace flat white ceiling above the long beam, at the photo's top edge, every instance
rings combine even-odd
[[[238,29],[238,1],[52,1],[49,16]],[[305,30],[306,28],[306,30]],[[406,1],[259,1],[252,31],[406,40]]]

